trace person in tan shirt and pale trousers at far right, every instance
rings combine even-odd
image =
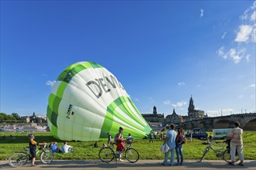
[[[243,153],[243,129],[239,128],[240,123],[235,122],[234,128],[230,131],[230,135],[227,137],[227,139],[231,139],[230,141],[230,155],[231,155],[231,161],[229,165],[234,165],[234,162],[236,161],[236,151],[237,155],[240,159],[240,163],[238,165],[244,166],[244,153]]]

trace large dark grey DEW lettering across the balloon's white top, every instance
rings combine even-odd
[[[104,76],[103,78],[91,80],[88,83],[86,83],[86,86],[92,91],[92,93],[97,98],[102,96],[103,91],[105,93],[109,93],[111,91],[108,85],[110,85],[113,89],[116,89],[116,87],[118,87],[124,90],[122,84],[116,80],[115,76],[112,75],[110,75],[110,78]]]

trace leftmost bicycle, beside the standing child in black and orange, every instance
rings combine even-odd
[[[47,145],[41,145],[40,148],[36,148],[36,155],[40,153],[40,161],[43,164],[50,164],[54,159],[54,154],[45,148],[47,148]],[[22,166],[32,160],[29,148],[23,148],[23,150],[24,151],[17,151],[9,157],[8,162],[10,166]]]

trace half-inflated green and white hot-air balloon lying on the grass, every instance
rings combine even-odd
[[[58,76],[47,121],[54,138],[63,141],[99,141],[119,127],[124,138],[144,138],[151,131],[116,76],[93,62],[74,63]]]

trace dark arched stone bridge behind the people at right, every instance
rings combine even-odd
[[[203,119],[186,121],[181,124],[184,129],[201,128],[205,130],[231,128],[235,121],[240,122],[244,131],[256,131],[256,113],[231,114],[220,117],[204,117]]]

